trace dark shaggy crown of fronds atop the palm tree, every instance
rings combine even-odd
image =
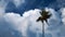
[[[43,23],[43,21],[46,21],[48,24],[48,18],[50,18],[50,16],[52,14],[49,14],[49,12],[47,12],[44,10],[42,10],[42,12],[40,12],[40,14],[41,14],[41,16],[37,20],[37,22],[41,21]]]

